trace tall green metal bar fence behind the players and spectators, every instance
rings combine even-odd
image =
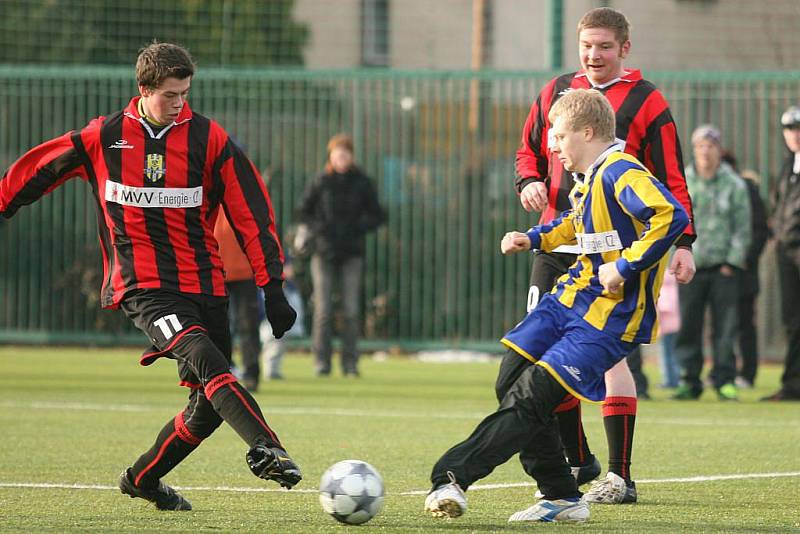
[[[495,347],[524,312],[528,259],[502,257],[499,237],[533,222],[512,189],[513,155],[530,103],[549,78],[202,70],[191,102],[268,171],[282,232],[292,227],[306,181],[323,166],[328,138],[351,133],[356,160],[376,180],[389,214],[368,240],[367,339]],[[740,165],[765,177],[766,193],[783,157],[778,117],[800,98],[800,73],[649,78],[671,103],[687,160],[691,129],[719,124]],[[134,93],[128,68],[0,66],[0,168],[44,139],[120,109]],[[78,181],[0,225],[0,340],[140,340],[121,313],[98,309],[94,217],[88,188]],[[307,282],[303,262],[298,267]],[[775,308],[768,290],[760,321],[770,340]]]

